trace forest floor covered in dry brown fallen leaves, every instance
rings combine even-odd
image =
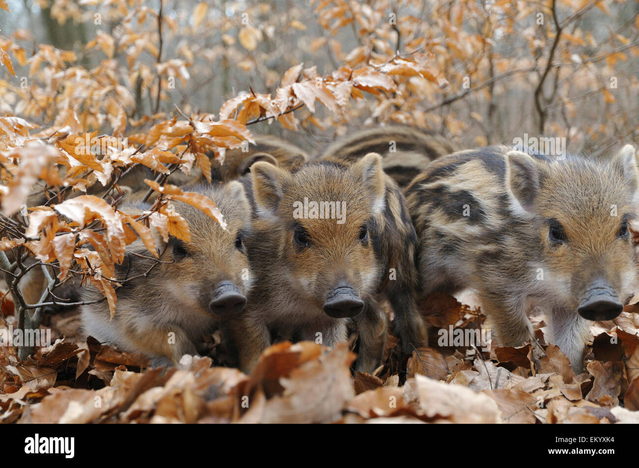
[[[0,346],[0,422],[639,423],[639,305],[592,323],[579,375],[544,340],[543,316],[531,317],[541,348],[498,347],[468,346],[475,330],[490,329],[477,307],[442,294],[422,313],[432,347],[408,356],[390,338],[373,374],[350,370],[350,345],[281,342],[251,375],[217,365],[217,335],[210,356],[185,356],[163,372],[83,337],[76,311],[51,315],[42,328],[52,329],[52,345],[33,358],[20,363],[13,347]],[[14,321],[0,315],[0,330]],[[452,343],[442,343],[438,331],[451,326]],[[461,331],[466,340],[456,342]]]

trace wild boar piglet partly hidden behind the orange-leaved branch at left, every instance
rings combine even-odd
[[[166,243],[152,229],[160,262],[155,264],[141,239],[127,246],[125,261],[116,265],[116,279],[122,286],[116,289],[113,319],[106,301],[82,306],[88,335],[126,351],[143,352],[154,366],[175,364],[183,354],[196,354],[206,333],[224,317],[242,312],[250,290],[244,239],[251,215],[243,185],[233,181],[193,191],[217,204],[227,230],[199,209],[172,201],[189,223],[190,243],[173,236]],[[124,211],[141,214],[148,208],[137,204]],[[94,287],[82,289],[84,301],[100,296]]]

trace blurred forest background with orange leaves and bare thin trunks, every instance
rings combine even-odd
[[[372,66],[396,88],[316,112],[302,107],[252,132],[311,153],[335,135],[387,122],[430,128],[463,146],[527,133],[602,155],[639,142],[633,0],[0,0],[0,7],[0,113],[42,129],[77,118],[76,133],[127,135],[161,112],[175,114],[174,105],[217,114],[241,94],[275,96],[286,70],[303,63],[336,79],[339,70]]]

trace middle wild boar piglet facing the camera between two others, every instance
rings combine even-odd
[[[414,301],[417,237],[379,155],[292,172],[258,162],[247,188],[255,213],[247,239],[255,283],[247,309],[225,324],[243,371],[276,336],[332,347],[347,339],[353,324],[356,368],[371,372],[387,336],[382,293],[404,347],[424,345],[426,328]]]

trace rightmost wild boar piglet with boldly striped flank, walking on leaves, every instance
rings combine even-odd
[[[636,291],[637,177],[631,145],[602,161],[507,146],[436,160],[406,190],[422,291],[475,289],[501,345],[530,339],[541,307],[579,372],[587,321],[615,319]]]

